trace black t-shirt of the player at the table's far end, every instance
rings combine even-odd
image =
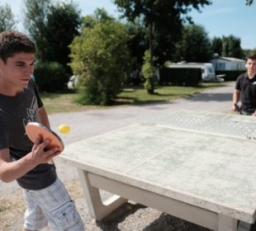
[[[241,91],[242,111],[254,113],[256,110],[256,76],[249,78],[242,73],[236,80],[235,89]]]

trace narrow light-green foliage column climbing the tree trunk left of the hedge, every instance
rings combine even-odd
[[[142,74],[143,74],[143,77],[145,78],[145,83],[144,83],[145,89],[147,90],[147,92],[149,92],[149,94],[153,94],[154,88],[155,88],[154,67],[150,62],[149,50],[145,51],[144,64],[142,66]]]

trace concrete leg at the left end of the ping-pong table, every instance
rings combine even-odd
[[[87,200],[88,210],[93,218],[101,220],[126,203],[127,199],[116,195],[102,202],[99,189],[90,184],[88,172],[78,169],[78,173],[83,186],[83,193]]]

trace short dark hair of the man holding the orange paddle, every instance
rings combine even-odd
[[[4,63],[17,53],[36,53],[36,45],[19,31],[2,31],[0,33],[0,59]]]

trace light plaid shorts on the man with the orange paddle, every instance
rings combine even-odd
[[[23,189],[26,200],[24,228],[43,229],[48,225],[55,231],[82,231],[83,221],[59,178],[42,190]]]

